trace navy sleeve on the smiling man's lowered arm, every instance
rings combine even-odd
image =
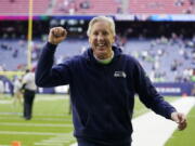
[[[156,114],[170,119],[176,108],[164,99],[152,84],[142,66],[136,62],[134,67],[135,91],[141,102]]]

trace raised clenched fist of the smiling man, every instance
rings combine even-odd
[[[67,36],[66,29],[63,27],[53,27],[50,29],[48,41],[52,44],[58,44],[63,40],[65,40]]]

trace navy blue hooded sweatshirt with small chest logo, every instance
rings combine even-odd
[[[53,66],[56,45],[47,43],[37,70],[38,87],[69,84],[77,138],[122,144],[130,141],[134,94],[156,114],[170,119],[176,109],[164,101],[133,57],[115,52],[112,63],[100,64],[92,50]]]

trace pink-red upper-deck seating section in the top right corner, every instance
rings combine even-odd
[[[129,0],[129,13],[133,14],[192,14],[193,0]]]

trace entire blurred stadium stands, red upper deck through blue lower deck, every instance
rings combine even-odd
[[[109,15],[116,22],[116,44],[136,57],[154,82],[195,82],[194,0],[32,1],[32,66],[51,27],[68,30],[56,52],[55,63],[61,63],[89,47],[90,18]],[[28,0],[0,1],[0,71],[27,67],[28,9]]]

